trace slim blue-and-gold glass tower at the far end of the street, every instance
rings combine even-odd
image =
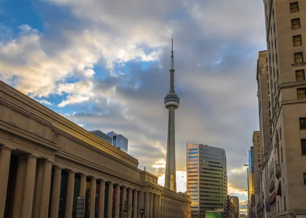
[[[248,193],[247,193],[247,214],[248,217],[254,218],[252,216],[252,211],[255,207],[254,195],[255,195],[255,168],[254,168],[254,147],[251,146],[248,150]]]

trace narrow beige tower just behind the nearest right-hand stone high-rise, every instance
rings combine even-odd
[[[270,101],[270,75],[268,66],[267,50],[260,51],[257,60],[257,85],[258,85],[258,106],[259,106],[259,126],[260,126],[260,146],[261,146],[261,165],[259,168],[259,176],[256,180],[255,195],[257,217],[264,217],[265,199],[269,199],[267,192],[268,183],[265,177],[268,171],[265,168],[268,162],[268,151],[271,144],[271,101]],[[265,175],[265,177],[263,176]],[[265,181],[265,182],[264,182]],[[265,194],[265,197],[264,197]],[[268,203],[269,205],[269,203]]]

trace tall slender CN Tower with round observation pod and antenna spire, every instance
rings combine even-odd
[[[174,111],[180,106],[180,98],[174,90],[174,66],[173,66],[173,38],[171,50],[171,67],[170,67],[170,90],[164,98],[165,107],[169,111],[168,119],[168,140],[167,140],[167,158],[165,187],[176,192],[176,168],[175,168],[175,128],[174,128]]]

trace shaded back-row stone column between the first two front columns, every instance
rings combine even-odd
[[[21,217],[22,211],[20,208],[22,208],[25,171],[27,171],[27,159],[25,159],[25,156],[19,155],[18,158],[12,218]]]

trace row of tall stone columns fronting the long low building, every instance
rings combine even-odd
[[[10,170],[10,158],[11,152],[15,149],[11,146],[0,146],[0,218],[4,217],[5,205],[7,198],[7,187]],[[28,154],[18,155],[18,167],[15,183],[15,194],[13,198],[13,212],[12,218],[39,218],[49,217],[58,218],[59,215],[59,203],[60,203],[60,191],[61,191],[61,176],[62,168],[56,166],[56,163],[52,160],[42,159],[41,157]],[[35,179],[36,179],[36,164],[37,160],[42,162],[38,169],[40,176],[40,183],[37,184],[36,189],[39,186],[40,192],[34,192]],[[52,168],[54,168],[53,181],[52,180]],[[101,178],[95,178],[90,175],[84,175],[78,172],[74,172],[69,169],[68,171],[68,185],[66,193],[66,205],[65,205],[65,218],[72,217],[73,207],[73,194],[74,194],[74,178],[75,174],[80,175],[80,195],[85,197],[86,193],[86,181],[87,177],[91,180],[90,189],[90,202],[95,202],[96,183],[99,180],[100,183],[100,197],[99,197],[99,218],[104,217],[104,211],[107,213],[107,217],[112,217],[112,211],[115,211],[115,218],[119,218],[120,204],[122,210],[124,209],[124,201],[128,200],[127,218],[141,218],[139,213],[140,208],[145,209],[144,218],[159,218],[161,216],[161,196],[155,193],[142,192],[142,190],[133,189],[112,181],[105,181]],[[53,183],[52,192],[50,192],[50,186]],[[104,208],[105,201],[105,186],[108,183],[109,187],[116,189],[115,196],[115,208],[113,206],[113,192],[108,192],[108,208]],[[120,187],[122,187],[122,202],[120,202]],[[127,196],[126,196],[127,190]],[[133,193],[133,195],[132,195]],[[40,194],[40,195],[39,195]],[[51,196],[50,196],[51,195]],[[132,199],[132,197],[134,199]],[[49,202],[50,199],[50,202]],[[134,200],[134,204],[132,202]],[[50,207],[49,207],[50,205]],[[91,206],[92,205],[92,206]],[[95,204],[90,204],[89,217],[94,218]],[[132,214],[132,207],[134,208],[134,214]],[[50,211],[48,211],[50,208]],[[133,216],[132,216],[133,215]],[[122,217],[122,216],[121,216]]]

